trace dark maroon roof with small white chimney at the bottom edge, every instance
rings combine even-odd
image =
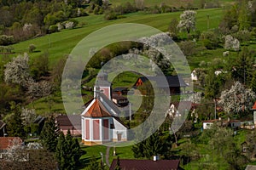
[[[117,166],[117,159],[112,161],[110,170],[114,170]],[[134,169],[150,169],[150,170],[179,170],[179,160],[131,160],[119,159],[120,169],[134,170]]]

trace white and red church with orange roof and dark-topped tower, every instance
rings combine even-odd
[[[128,127],[119,119],[119,108],[112,101],[108,75],[98,75],[94,98],[84,105],[81,114],[82,142],[85,145],[127,141]]]

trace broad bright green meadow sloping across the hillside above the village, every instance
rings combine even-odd
[[[73,47],[90,32],[96,31],[104,26],[109,26],[119,23],[139,23],[148,26],[154,26],[161,31],[166,31],[172,18],[179,17],[181,12],[167,14],[143,14],[142,12],[135,14],[127,14],[126,18],[119,20],[103,20],[103,15],[90,15],[78,18],[79,22],[85,22],[86,25],[73,30],[65,30],[56,32],[44,37],[38,37],[26,42],[14,44],[14,56],[23,54],[28,51],[28,46],[34,44],[37,47],[38,53],[32,53],[30,56],[38,57],[44,52],[49,52],[49,62],[53,65],[58,59],[71,52]],[[207,14],[210,16],[210,28],[216,28],[219,20],[222,18],[223,9],[202,9],[197,11],[197,29],[200,31],[207,30]]]

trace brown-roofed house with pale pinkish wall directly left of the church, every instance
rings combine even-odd
[[[65,135],[69,129],[73,136],[81,136],[81,116],[60,115],[55,118],[55,123]]]

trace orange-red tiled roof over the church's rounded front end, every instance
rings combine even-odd
[[[90,105],[89,110],[83,115],[85,117],[106,117],[111,116],[108,113],[108,110],[102,105],[102,102],[99,99],[95,99],[92,101],[93,104]],[[89,106],[89,105],[87,105]]]

